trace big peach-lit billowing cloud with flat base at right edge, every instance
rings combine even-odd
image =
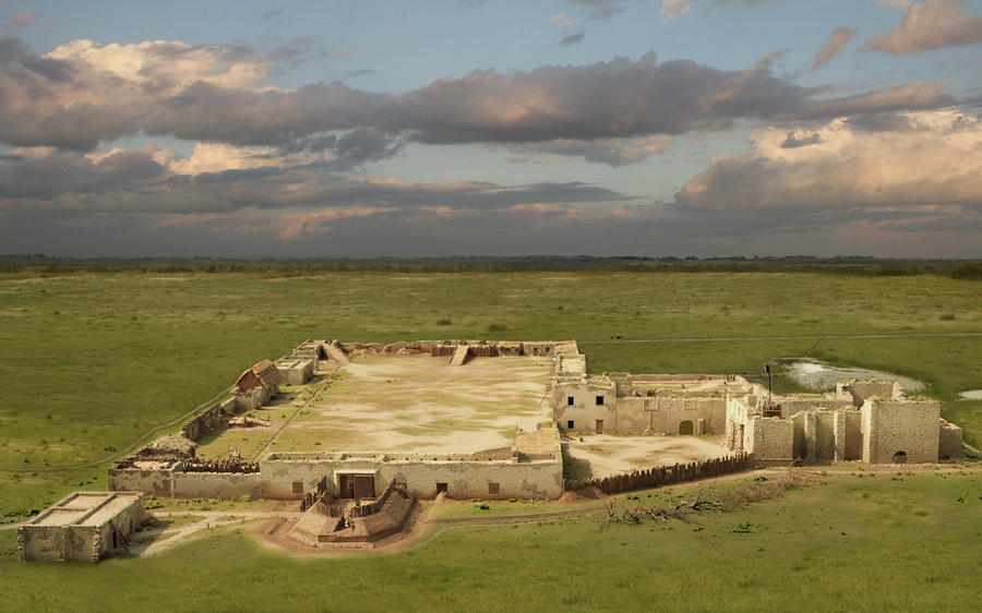
[[[758,130],[750,151],[715,159],[675,203],[711,211],[955,205],[982,212],[982,121],[957,110],[905,116],[911,129],[901,132],[863,132],[845,119],[792,133]]]

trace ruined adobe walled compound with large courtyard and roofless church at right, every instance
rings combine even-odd
[[[771,398],[738,375],[591,375],[575,341],[308,340],[277,363],[291,374],[268,360],[248,369],[180,437],[110,469],[110,490],[302,500],[323,481],[338,498],[371,498],[390,483],[419,497],[555,498],[561,436],[601,433],[724,435],[731,452],[763,465],[961,457],[961,429],[941,419],[938,402],[907,398],[895,382]],[[471,370],[474,380],[463,380]],[[314,373],[335,387],[308,383]],[[284,380],[310,395],[297,423],[276,430],[240,417],[273,400]],[[448,405],[436,404],[438,392]],[[235,452],[196,457],[180,445],[233,441],[225,433],[250,425],[271,440],[254,461]]]

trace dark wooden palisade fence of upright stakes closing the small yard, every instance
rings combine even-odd
[[[573,492],[584,488],[597,488],[604,494],[619,494],[632,490],[658,488],[672,483],[695,481],[707,477],[717,477],[730,472],[750,470],[754,467],[753,454],[736,454],[721,458],[698,460],[672,466],[656,466],[647,470],[635,470],[625,474],[612,474],[602,479],[582,479],[566,481],[565,490]]]

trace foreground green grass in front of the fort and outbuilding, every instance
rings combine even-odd
[[[718,482],[703,495],[750,482]],[[638,501],[619,496],[616,504],[666,506],[704,488],[639,492]],[[468,508],[456,515],[482,513]],[[0,570],[17,589],[0,592],[0,604],[9,611],[978,608],[978,469],[815,477],[780,497],[668,525],[608,527],[603,510],[594,509],[453,526],[418,549],[344,558],[289,558],[240,529],[156,557],[96,566],[20,564],[8,553]],[[0,551],[12,545],[12,532],[0,532]]]

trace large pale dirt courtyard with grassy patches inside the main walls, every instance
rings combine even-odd
[[[430,356],[355,357],[272,448],[470,454],[510,446],[518,429],[534,432],[551,420],[550,358],[447,362]]]

